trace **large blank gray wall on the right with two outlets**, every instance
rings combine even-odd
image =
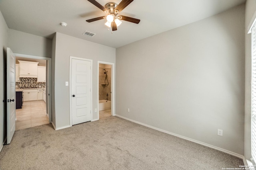
[[[116,114],[243,155],[244,12],[116,49]]]

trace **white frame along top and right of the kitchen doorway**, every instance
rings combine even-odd
[[[50,86],[50,80],[51,80],[51,68],[52,68],[52,59],[49,57],[40,57],[40,56],[35,56],[35,55],[26,55],[26,54],[18,54],[14,53],[15,55],[15,60],[16,57],[23,57],[23,58],[30,58],[30,59],[40,59],[40,60],[46,60],[46,92],[47,92],[47,100],[46,100],[46,107],[47,107],[47,113],[48,113],[48,118],[49,118],[49,123],[52,123],[52,90]],[[15,70],[16,72],[16,70]]]

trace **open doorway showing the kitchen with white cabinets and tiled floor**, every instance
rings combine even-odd
[[[48,85],[50,60],[47,60],[46,57],[28,55],[24,57],[24,55],[18,54],[16,54],[15,58],[15,129],[25,129],[50,123],[48,98],[48,92],[50,91]],[[26,73],[27,70],[30,73]]]

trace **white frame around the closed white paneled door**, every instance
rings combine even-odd
[[[73,126],[72,125],[72,98],[70,96],[72,96],[72,59],[77,59],[77,60],[83,60],[83,61],[90,61],[90,70],[91,70],[91,90],[90,90],[90,93],[91,93],[91,121],[92,121],[92,60],[91,59],[84,59],[84,58],[79,58],[79,57],[72,57],[70,56],[70,59],[69,59],[69,115],[70,115],[70,127]]]

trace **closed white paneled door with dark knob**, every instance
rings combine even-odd
[[[91,62],[72,59],[72,125],[91,121]]]

